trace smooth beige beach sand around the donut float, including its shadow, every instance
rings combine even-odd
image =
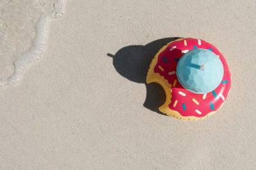
[[[67,1],[47,47],[0,89],[1,169],[253,169],[255,1]],[[145,84],[154,53],[202,38],[225,56],[232,88],[204,120],[157,112]],[[164,39],[163,39],[164,38]]]

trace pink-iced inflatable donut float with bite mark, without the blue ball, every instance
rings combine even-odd
[[[179,59],[196,48],[211,50],[223,65],[223,78],[218,87],[209,93],[188,91],[177,78]],[[159,111],[180,120],[200,120],[210,116],[225,102],[231,87],[230,72],[223,55],[211,43],[195,38],[180,38],[162,47],[150,63],[147,83],[151,82],[160,84],[166,93],[166,101]]]

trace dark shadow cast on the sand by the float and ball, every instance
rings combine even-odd
[[[165,93],[159,84],[147,84],[147,72],[150,62],[158,50],[167,43],[177,39],[179,39],[179,37],[163,38],[150,42],[147,45],[130,45],[118,50],[115,55],[107,54],[109,57],[113,58],[113,65],[120,75],[133,82],[145,83],[147,97],[143,105],[147,107],[147,109],[159,114],[163,114],[159,111],[158,107],[164,104]]]

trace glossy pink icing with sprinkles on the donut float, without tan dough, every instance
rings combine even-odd
[[[176,68],[179,59],[189,50],[195,49],[195,46],[198,49],[211,50],[223,64],[223,79],[220,85],[209,93],[196,94],[188,91],[177,79]],[[172,98],[168,107],[179,112],[181,116],[202,118],[209,112],[218,110],[225,102],[231,86],[230,72],[223,55],[211,43],[195,38],[184,38],[168,44],[168,47],[159,54],[154,72],[159,73],[172,85],[170,87]]]

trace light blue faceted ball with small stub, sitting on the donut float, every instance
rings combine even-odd
[[[224,73],[220,58],[207,49],[193,49],[184,54],[176,71],[180,84],[199,94],[216,89]]]

